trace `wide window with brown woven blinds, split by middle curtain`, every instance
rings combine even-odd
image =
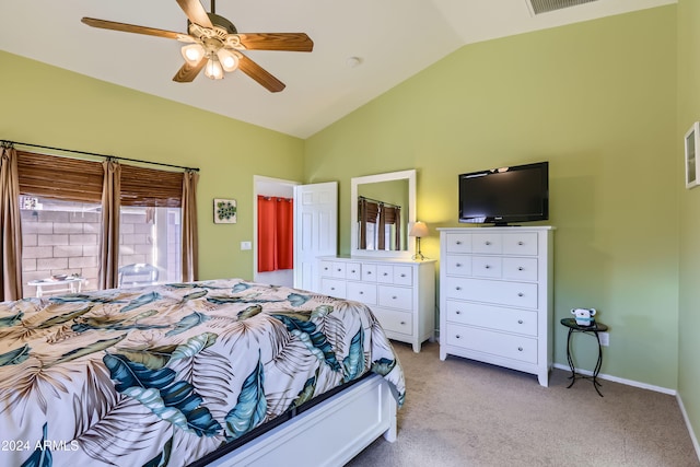
[[[18,151],[18,171],[23,295],[37,293],[32,281],[44,281],[43,293],[65,292],[49,280],[72,275],[81,289],[97,289],[102,164]],[[121,268],[136,272],[125,287],[182,280],[182,172],[121,165],[120,282]]]

